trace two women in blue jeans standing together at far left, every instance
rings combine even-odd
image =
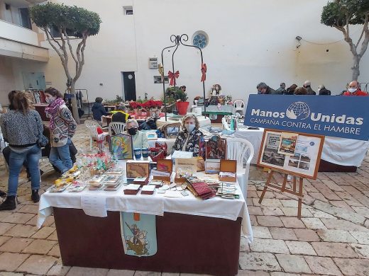
[[[77,123],[60,91],[48,88],[45,90],[45,97],[49,103],[45,109],[50,118],[48,139],[44,137],[45,129],[40,114],[34,110],[27,93],[11,91],[8,95],[9,110],[1,115],[0,125],[4,141],[9,144],[7,150],[3,150],[9,166],[9,180],[6,200],[0,205],[0,211],[16,209],[18,178],[22,166],[26,166],[31,179],[31,200],[40,200],[38,190],[41,172],[38,163],[42,154],[41,147],[46,146],[43,144],[45,141],[50,142],[48,157],[57,171],[65,173],[73,166],[70,147]]]

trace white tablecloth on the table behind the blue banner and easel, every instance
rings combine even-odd
[[[263,132],[263,128],[259,130],[240,129],[234,132],[235,137],[246,139],[253,144],[255,154],[251,163],[257,163]],[[368,141],[326,136],[321,151],[321,159],[341,166],[359,167],[363,163],[368,149]]]

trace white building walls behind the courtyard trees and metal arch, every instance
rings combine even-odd
[[[352,55],[343,35],[320,23],[326,0],[64,0],[95,11],[101,16],[101,30],[87,40],[85,65],[76,88],[89,91],[89,100],[97,96],[114,99],[125,96],[123,76],[134,74],[136,96],[161,98],[163,85],[155,84],[157,69],[149,68],[149,59],[158,58],[161,50],[172,45],[170,35],[204,33],[203,48],[207,65],[206,95],[213,84],[220,84],[225,95],[247,100],[256,93],[256,85],[264,81],[272,88],[280,82],[302,86],[307,79],[312,88],[324,84],[333,95],[341,93],[351,81]],[[0,0],[0,6],[4,1]],[[1,14],[1,8],[0,8]],[[0,24],[6,21],[1,17]],[[12,28],[6,25],[6,30]],[[23,27],[16,31],[21,33]],[[40,35],[26,43],[43,51],[48,42]],[[0,39],[4,37],[0,26]],[[11,32],[13,33],[13,32]],[[353,26],[353,38],[360,28]],[[26,35],[20,35],[26,38]],[[299,36],[302,40],[298,41]],[[35,40],[38,38],[38,40]],[[10,38],[17,40],[17,38]],[[27,45],[28,45],[27,44]],[[42,72],[45,85],[65,90],[65,74],[57,54],[29,61],[23,57],[4,57],[0,44],[0,92],[28,88],[24,73]],[[34,54],[40,56],[43,54]],[[172,71],[172,52],[164,53],[165,74]],[[47,60],[48,59],[48,60]],[[9,61],[10,60],[10,61]],[[369,81],[369,54],[360,63],[359,81]],[[11,64],[11,71],[7,69]],[[73,63],[70,68],[73,69]],[[175,53],[175,71],[180,71],[177,85],[187,86],[189,100],[202,95],[201,59],[198,50],[179,47]],[[12,76],[11,75],[12,72]],[[167,86],[168,84],[166,84]],[[128,93],[129,91],[126,91]]]

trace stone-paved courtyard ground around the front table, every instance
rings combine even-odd
[[[74,142],[79,149],[89,145],[83,126]],[[41,186],[45,190],[57,175],[48,160],[40,164],[46,172]],[[266,176],[252,166],[247,204],[255,240],[248,246],[241,239],[238,275],[369,275],[368,158],[357,173],[319,173],[316,180],[306,181],[301,220],[296,218],[297,201],[280,192],[267,192],[263,204],[258,204]],[[6,190],[6,183],[1,160],[1,190]],[[17,209],[0,212],[0,275],[161,274],[62,266],[53,217],[41,229],[35,227],[38,205],[30,201],[24,172],[20,183]]]

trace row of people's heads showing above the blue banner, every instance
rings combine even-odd
[[[275,94],[275,95],[316,95],[316,92],[312,89],[312,82],[305,81],[303,86],[297,86],[297,84],[292,84],[290,87],[286,88],[286,84],[282,82],[280,88],[273,89],[270,88],[265,82],[260,82],[258,86],[258,94]],[[318,86],[318,95],[330,96],[331,91],[329,91],[324,84]],[[361,91],[360,84],[358,81],[351,81],[350,84],[346,86],[346,91],[341,93],[343,96],[368,96],[368,93]]]

